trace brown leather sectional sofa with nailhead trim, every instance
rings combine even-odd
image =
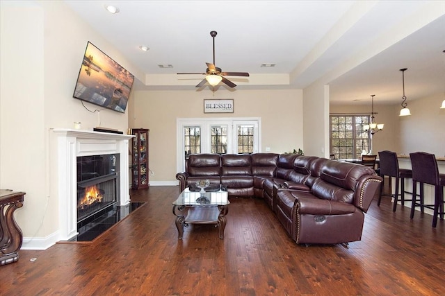
[[[382,178],[371,168],[295,154],[191,155],[179,190],[209,180],[229,197],[264,198],[296,243],[348,243],[362,237],[364,213]]]

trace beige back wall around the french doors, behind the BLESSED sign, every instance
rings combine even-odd
[[[301,90],[236,90],[217,92],[140,91],[134,94],[131,128],[149,128],[150,183],[175,181],[177,119],[216,117],[261,118],[261,147],[285,153],[303,148]],[[233,98],[234,113],[204,114],[204,98]]]

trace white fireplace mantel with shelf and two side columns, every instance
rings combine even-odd
[[[77,175],[78,156],[120,154],[120,205],[130,202],[129,139],[131,134],[114,134],[92,130],[54,128],[57,136],[58,241],[67,241],[77,234]]]

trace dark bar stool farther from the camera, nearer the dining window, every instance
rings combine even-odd
[[[402,205],[405,205],[405,193],[411,193],[405,191],[405,178],[412,179],[412,170],[398,168],[398,159],[395,152],[388,150],[379,151],[378,158],[380,159],[380,177],[383,177],[384,179],[385,176],[396,178],[396,191],[394,192],[394,195],[391,194],[391,196],[394,196],[392,211],[396,211],[398,196],[400,195],[401,197]],[[401,193],[398,193],[398,184],[401,184]],[[380,196],[377,202],[378,206],[380,206],[380,200],[382,199],[382,188],[383,184],[380,186]],[[412,199],[406,201],[412,202]]]

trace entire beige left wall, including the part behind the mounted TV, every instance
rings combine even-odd
[[[72,98],[88,41],[135,73],[103,37],[76,17],[63,1],[1,1],[0,188],[25,191],[15,212],[24,248],[47,247],[58,229],[58,176],[51,128],[98,125]],[[91,110],[97,107],[86,103]],[[102,125],[126,130],[128,115],[101,112]]]

